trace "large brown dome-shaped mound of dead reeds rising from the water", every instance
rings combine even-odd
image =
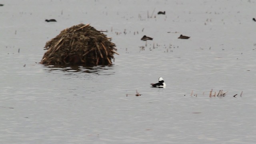
[[[78,24],[62,30],[46,42],[47,50],[41,60],[46,65],[111,65],[115,44],[90,24]]]

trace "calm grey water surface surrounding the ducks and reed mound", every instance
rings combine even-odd
[[[1,3],[0,143],[256,142],[255,0]],[[81,22],[108,30],[113,66],[38,64],[46,41]],[[166,88],[150,88],[160,76]]]

